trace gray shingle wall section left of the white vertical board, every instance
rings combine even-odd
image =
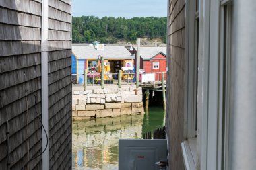
[[[40,1],[0,1],[0,169],[7,169],[7,149],[10,169],[22,169],[42,152],[41,124],[34,108],[41,114],[40,15]],[[32,94],[26,97],[26,89],[36,95],[36,105]],[[38,157],[29,169],[41,166]]]

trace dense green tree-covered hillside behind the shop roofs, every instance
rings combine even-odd
[[[166,43],[166,17],[73,17],[73,43],[115,43],[119,40],[135,42],[137,38],[161,38]]]

